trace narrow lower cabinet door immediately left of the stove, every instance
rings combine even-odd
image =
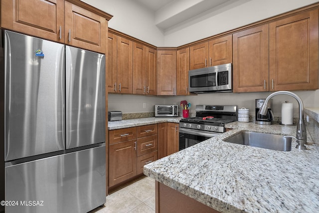
[[[167,124],[167,153],[166,156],[179,150],[179,125],[177,123]]]

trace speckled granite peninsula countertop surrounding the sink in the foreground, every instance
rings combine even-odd
[[[144,166],[144,174],[222,213],[319,210],[319,143],[281,152],[227,143],[244,130],[296,135],[296,126],[233,122],[220,136]]]

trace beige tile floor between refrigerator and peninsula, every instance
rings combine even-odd
[[[144,176],[109,194],[104,207],[90,213],[155,213],[155,181]]]

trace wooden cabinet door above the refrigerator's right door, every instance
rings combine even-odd
[[[65,1],[65,44],[105,53],[104,17]]]

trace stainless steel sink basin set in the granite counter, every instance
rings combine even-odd
[[[292,138],[283,135],[243,131],[236,133],[223,141],[277,151],[291,151]]]

